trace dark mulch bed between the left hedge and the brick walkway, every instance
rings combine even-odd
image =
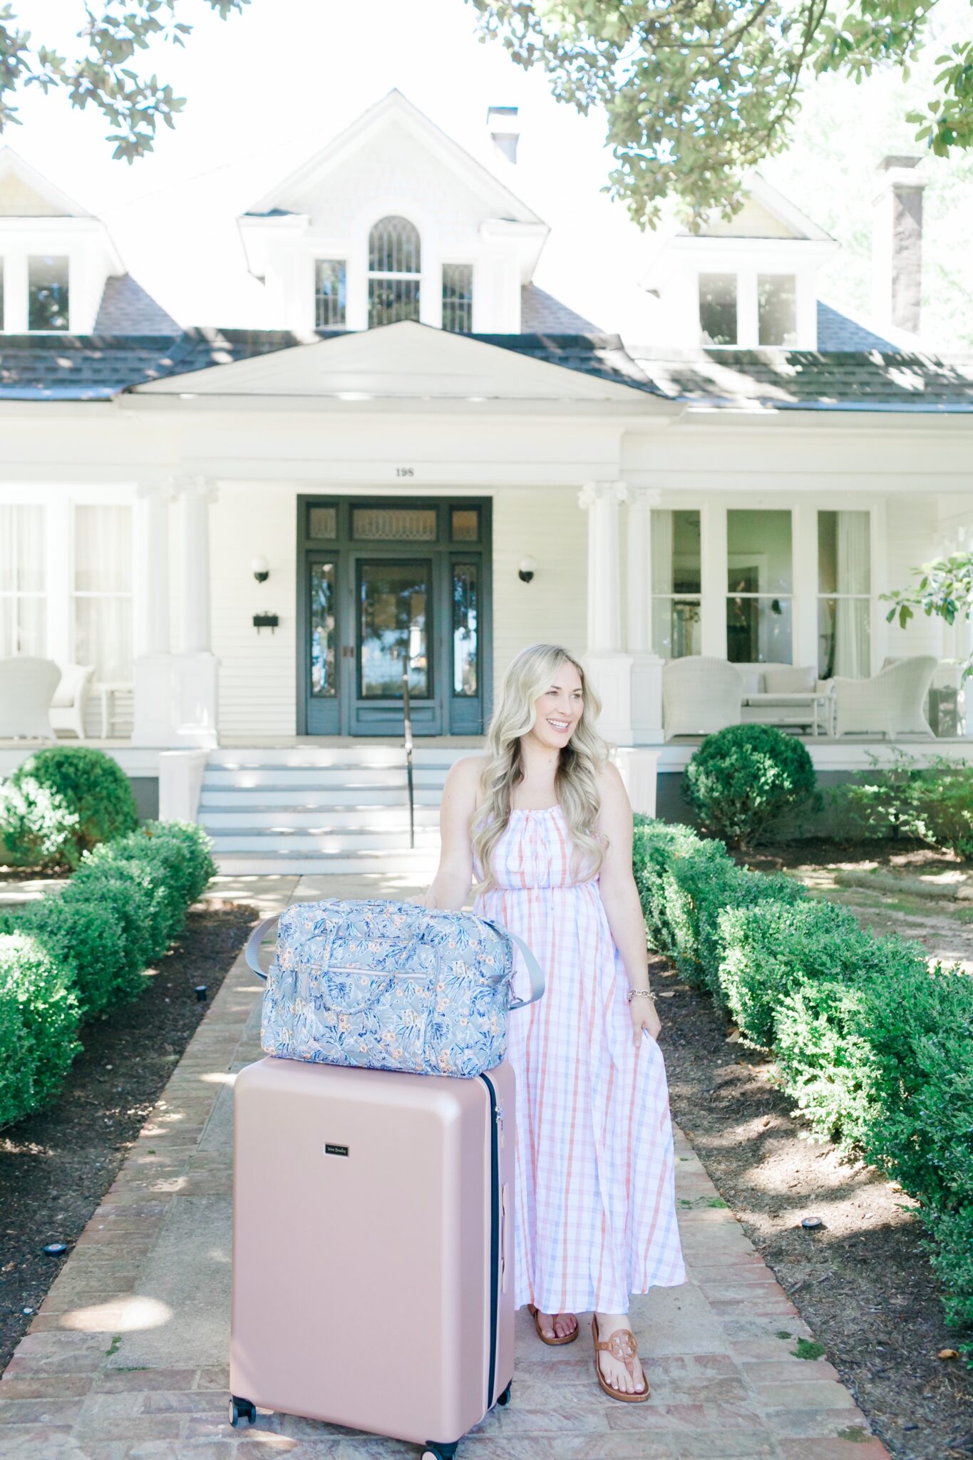
[[[142,999],[82,1029],[85,1048],[55,1104],[0,1132],[0,1371],[66,1260],[45,1256],[45,1244],[70,1253],[257,917],[245,904],[190,908]]]

